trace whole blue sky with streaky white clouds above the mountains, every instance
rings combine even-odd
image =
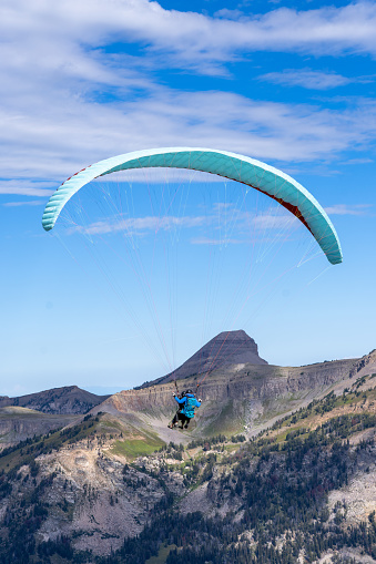
[[[367,1],[2,0],[0,394],[68,384],[98,393],[131,388],[179,366],[220,330],[246,330],[261,356],[282,366],[360,357],[374,349],[375,29],[376,2]],[[226,185],[206,178],[209,199],[199,202],[201,188],[183,191],[191,198],[186,214],[179,208],[175,216],[169,208],[162,243],[152,255],[155,208],[144,206],[145,186],[135,178],[140,195],[126,221],[150,267],[143,284],[155,284],[148,320],[142,285],[125,276],[129,265],[120,268],[125,255],[114,259],[120,242],[111,238],[111,259],[103,250],[115,237],[115,219],[109,209],[94,213],[90,191],[70,213],[85,209],[91,233],[70,232],[67,216],[60,234],[50,236],[41,216],[53,191],[77,171],[161,146],[231,151],[291,174],[327,211],[343,264],[327,268],[325,257],[309,247],[308,266],[292,269],[280,284],[292,246],[302,250],[311,244],[293,227],[276,260],[273,299],[250,299],[245,289],[237,312],[234,307],[225,319],[237,273],[250,260],[246,221],[257,233],[262,222],[268,242],[285,217],[263,202],[258,216],[248,219],[258,201],[246,208],[236,195],[224,201]],[[157,175],[148,181],[155,197],[163,192],[160,181]],[[173,182],[177,186],[181,180]],[[194,187],[201,181],[187,182]],[[101,189],[110,194],[114,185]],[[130,186],[125,199],[133,194]],[[233,186],[228,191],[236,193]],[[222,250],[205,244],[203,206],[211,236],[217,236],[213,217],[225,217],[225,208],[235,229],[222,245],[227,258],[216,270],[216,304],[213,286],[204,284],[205,265],[207,253],[219,260]],[[99,239],[98,225],[104,224],[110,227]],[[124,229],[118,232],[124,236]],[[167,275],[175,277],[171,288],[177,297],[169,305],[165,285],[150,265],[154,258],[163,263],[170,244],[177,266],[169,266]],[[106,281],[103,269],[90,262],[96,252],[112,269]],[[160,331],[159,324],[164,327],[175,314],[174,324]]]

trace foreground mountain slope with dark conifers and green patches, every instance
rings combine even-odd
[[[321,363],[316,375],[314,366],[285,370],[270,380],[270,400],[309,381],[323,397],[270,414],[251,440],[191,434],[182,444],[187,433],[172,431],[175,441],[163,442],[146,418],[153,408],[139,412],[142,429],[115,394],[116,413],[89,413],[1,452],[0,562],[375,562],[376,352]],[[133,408],[169,387],[132,390]]]

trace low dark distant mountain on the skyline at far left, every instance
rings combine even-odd
[[[19,406],[50,414],[80,414],[87,413],[108,397],[95,396],[89,391],[81,390],[78,386],[65,386],[63,388],[52,388],[51,390],[20,396],[19,398],[0,396],[0,408]]]

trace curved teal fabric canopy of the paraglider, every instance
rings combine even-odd
[[[67,202],[85,184],[131,168],[190,168],[217,174],[258,189],[294,214],[312,233],[333,265],[342,263],[336,230],[318,202],[287,174],[248,156],[212,148],[150,148],[100,161],[68,178],[49,199],[42,225],[52,229]]]

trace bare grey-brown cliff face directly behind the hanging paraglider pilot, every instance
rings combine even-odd
[[[250,434],[258,432],[266,422],[299,409],[332,389],[339,392],[350,386],[354,371],[364,359],[336,360],[304,367],[238,363],[214,370],[199,388],[203,406],[197,410],[194,435],[219,432],[238,432],[246,428]],[[370,366],[369,362],[366,366]],[[360,370],[356,373],[360,373]],[[180,381],[180,388],[196,389],[200,377]],[[108,398],[91,411],[126,414],[152,424],[157,432],[171,418],[176,404],[172,398],[173,381],[139,390],[126,390]],[[181,439],[181,438],[179,438]]]

